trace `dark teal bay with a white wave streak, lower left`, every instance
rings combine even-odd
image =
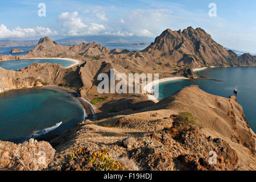
[[[84,117],[80,102],[61,91],[20,89],[0,94],[0,140],[21,142],[48,132],[59,135]]]

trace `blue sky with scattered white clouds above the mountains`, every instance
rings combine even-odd
[[[167,28],[192,26],[224,47],[256,52],[255,7],[255,0],[1,0],[0,40],[102,35],[153,41]]]

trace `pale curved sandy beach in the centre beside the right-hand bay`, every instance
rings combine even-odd
[[[186,77],[169,77],[169,78],[162,78],[160,80],[156,80],[156,81],[152,81],[150,82],[149,84],[147,84],[146,86],[144,86],[144,90],[146,92],[149,92],[149,93],[152,93],[152,88],[153,86],[155,85],[158,85],[160,83],[163,83],[163,82],[168,82],[168,81],[175,81],[175,80],[188,80],[189,78],[186,78]],[[151,101],[154,101],[154,102],[158,102],[158,98],[156,98],[154,95],[151,95],[151,94],[147,94],[147,97],[148,97],[148,100],[151,100]]]

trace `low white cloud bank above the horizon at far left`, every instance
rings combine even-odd
[[[29,38],[36,36],[51,36],[57,35],[57,31],[52,31],[49,28],[34,27],[34,28],[20,28],[16,27],[9,30],[4,24],[0,26],[0,38]]]

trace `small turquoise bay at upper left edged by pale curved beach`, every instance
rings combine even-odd
[[[16,70],[24,68],[32,63],[55,63],[60,64],[64,68],[69,67],[73,64],[72,61],[62,60],[62,59],[22,59],[22,60],[10,60],[10,61],[1,61],[0,67],[8,70]]]

